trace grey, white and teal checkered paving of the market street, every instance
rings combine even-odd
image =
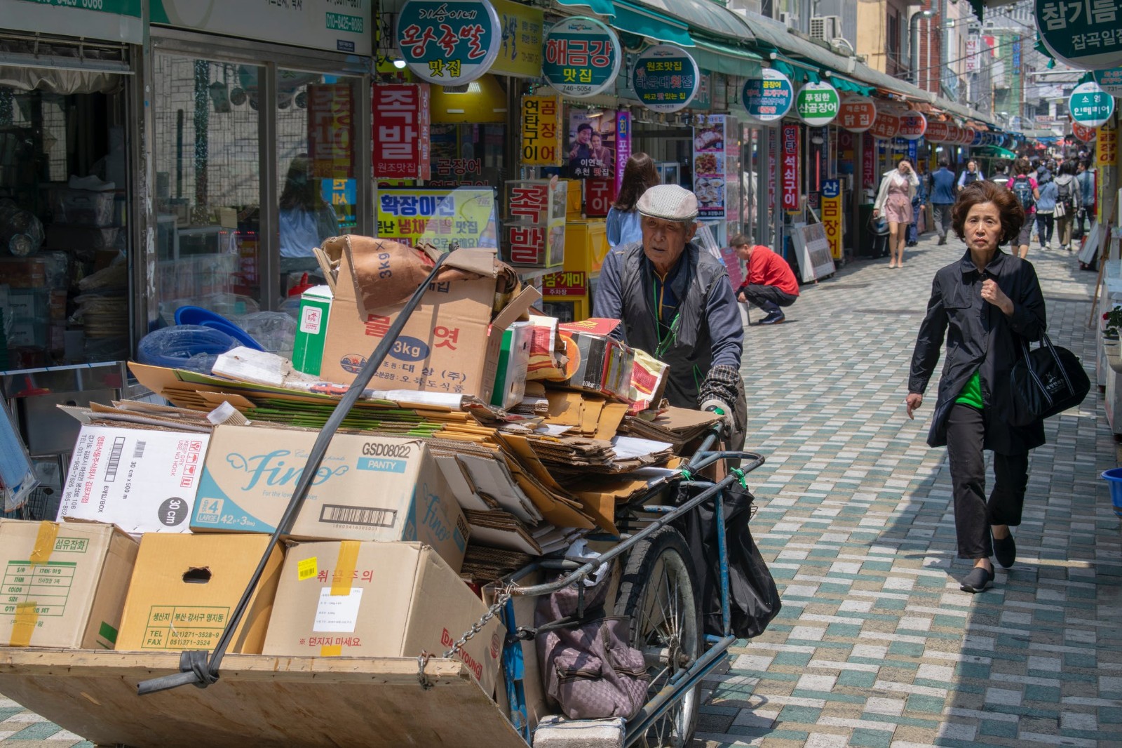
[[[753,530],[783,611],[710,681],[697,746],[1122,745],[1122,557],[1098,478],[1116,458],[1094,390],[1032,454],[1017,565],[958,591],[946,451],[925,444],[935,381],[916,421],[902,403],[931,277],[960,253],[928,238],[901,270],[850,263],[748,331]],[[1094,274],[1030,258],[1054,340],[1092,362]],[[90,746],[3,697],[0,741]]]

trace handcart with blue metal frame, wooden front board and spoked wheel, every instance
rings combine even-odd
[[[407,304],[399,319],[411,311]],[[390,330],[385,339],[395,337]],[[369,374],[380,364],[386,345],[370,357],[365,367]],[[362,386],[365,382],[359,382],[343,396],[323,429],[274,541],[289,523],[331,434]],[[98,746],[525,748],[533,736],[513,687],[521,677],[518,657],[504,657],[504,683],[513,696],[504,711],[469,667],[456,659],[457,650],[498,615],[508,631],[506,648],[521,654],[522,640],[534,629],[532,620],[513,615],[514,606],[508,605],[513,599],[549,595],[569,585],[583,590],[582,582],[601,564],[619,559],[623,575],[614,612],[629,618],[632,645],[642,651],[650,676],[646,703],[625,721],[625,745],[686,746],[698,720],[701,681],[736,639],[730,628],[725,492],[736,482],[744,484],[745,474],[764,463],[754,453],[714,450],[718,437],[719,427],[684,467],[651,481],[640,496],[619,505],[620,533],[611,538],[618,542],[595,560],[543,557],[500,581],[487,613],[442,656],[227,655],[255,578],[213,653],[0,647],[0,694]],[[716,482],[696,477],[716,463],[734,459],[746,464]],[[716,521],[719,636],[703,635],[700,569],[675,529],[702,507],[710,508]],[[519,584],[539,572],[560,576],[543,584]],[[177,687],[186,685],[199,687]]]

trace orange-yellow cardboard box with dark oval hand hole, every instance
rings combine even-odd
[[[267,535],[144,536],[116,648],[212,649],[268,542]],[[282,560],[274,548],[229,651],[260,654]]]

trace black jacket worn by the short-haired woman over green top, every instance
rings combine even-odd
[[[995,280],[1013,301],[1011,317],[982,299],[982,283],[986,279]],[[939,378],[939,398],[927,443],[932,447],[947,444],[947,416],[963,386],[977,371],[985,416],[984,448],[1015,455],[1042,445],[1041,421],[1026,427],[1010,426],[1009,372],[1023,356],[1021,338],[1039,340],[1046,328],[1043,294],[1028,261],[999,249],[985,270],[978,271],[967,250],[962,259],[939,270],[931,283],[931,299],[919,328],[908,378],[908,391],[923,394],[946,337],[947,362]]]

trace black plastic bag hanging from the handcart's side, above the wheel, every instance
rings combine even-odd
[[[684,503],[705,486],[679,491],[678,502]],[[734,485],[725,490],[725,537],[728,549],[729,622],[733,635],[741,639],[760,636],[779,614],[781,604],[775,580],[760,555],[748,520],[752,518],[752,494]],[[701,619],[705,632],[724,636],[720,618],[720,554],[717,548],[715,503],[703,502],[674,522],[686,538],[701,587]]]

